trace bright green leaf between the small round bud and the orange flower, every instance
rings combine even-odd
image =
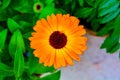
[[[54,10],[55,10],[55,4],[54,3],[48,4],[45,8],[43,8],[39,18],[40,19],[46,18],[48,15],[54,13]]]

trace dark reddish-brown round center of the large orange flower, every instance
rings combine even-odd
[[[63,48],[67,43],[67,37],[64,33],[55,31],[50,35],[49,43],[55,49]]]

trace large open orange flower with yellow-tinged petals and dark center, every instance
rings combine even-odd
[[[83,36],[86,31],[79,20],[69,14],[47,16],[47,20],[38,20],[33,29],[30,45],[44,66],[73,65],[73,60],[79,61],[79,54],[86,50],[87,38]]]

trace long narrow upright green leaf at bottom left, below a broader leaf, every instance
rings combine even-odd
[[[17,79],[23,74],[24,71],[24,57],[23,51],[17,47],[14,58],[14,75]]]

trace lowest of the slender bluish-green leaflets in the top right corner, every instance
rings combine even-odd
[[[120,8],[117,9],[116,11],[113,11],[112,13],[109,13],[108,15],[103,17],[102,19],[100,19],[100,23],[104,24],[104,23],[107,23],[107,22],[113,20],[119,13],[120,13]]]

